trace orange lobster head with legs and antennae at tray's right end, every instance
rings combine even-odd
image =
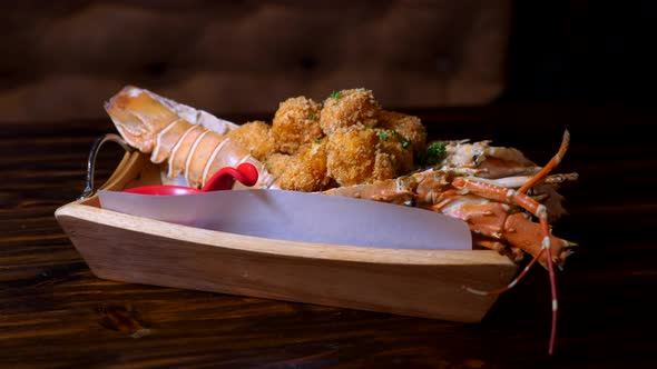
[[[496,149],[488,142],[467,147],[452,142],[451,152],[440,168],[412,173],[372,184],[359,184],[325,191],[326,195],[403,203],[442,212],[468,223],[475,245],[498,250],[519,260],[523,252],[533,258],[506,288],[479,295],[509,290],[536,262],[549,273],[552,295],[552,323],[549,353],[553,352],[557,332],[557,285],[555,266],[562,267],[573,242],[555,237],[549,227],[552,218],[563,213],[556,183],[577,179],[577,173],[549,176],[563,158],[570,134],[563,133],[559,151],[545,167],[538,167],[514,149]],[[450,151],[450,150],[447,150]],[[488,156],[488,157],[487,157]],[[529,190],[533,195],[529,196]],[[548,202],[547,200],[550,199]],[[541,201],[546,203],[541,203]],[[535,222],[531,217],[537,218]]]

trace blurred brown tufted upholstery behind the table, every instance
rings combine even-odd
[[[136,84],[210,112],[364,87],[390,108],[483,104],[504,83],[509,0],[0,4],[0,122],[106,117]]]

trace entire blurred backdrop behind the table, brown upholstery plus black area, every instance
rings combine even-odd
[[[216,114],[365,87],[388,108],[636,102],[646,7],[594,1],[16,1],[0,122],[104,118],[136,84]]]

